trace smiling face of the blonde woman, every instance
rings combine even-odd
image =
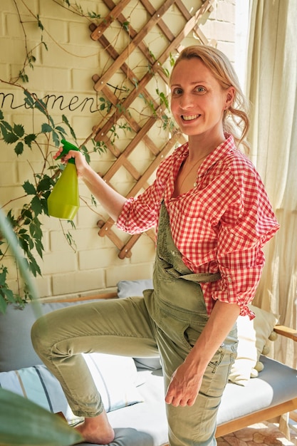
[[[212,71],[193,57],[174,67],[170,88],[172,115],[182,133],[224,140],[223,115],[234,98],[233,87],[223,90]]]

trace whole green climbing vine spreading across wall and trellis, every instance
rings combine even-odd
[[[60,6],[63,10],[68,11],[69,14],[75,14],[81,19],[84,19],[86,25],[100,24],[105,18],[97,14],[95,11],[84,11],[83,7],[78,2],[71,2],[69,0],[51,0],[53,3]],[[24,181],[21,186],[21,194],[19,197],[9,198],[5,203],[1,204],[1,209],[6,212],[6,219],[9,220],[11,227],[13,227],[19,245],[24,252],[24,259],[28,266],[28,270],[33,276],[41,275],[41,268],[39,266],[40,259],[43,259],[43,229],[41,224],[41,216],[48,215],[47,198],[51,193],[51,189],[56,184],[58,177],[63,171],[63,165],[53,160],[52,154],[60,145],[62,138],[71,138],[77,145],[77,137],[75,131],[69,123],[66,114],[61,114],[61,118],[54,119],[48,110],[48,103],[45,98],[38,98],[36,94],[26,88],[30,80],[30,73],[36,66],[36,54],[38,51],[49,51],[48,41],[51,40],[56,45],[61,45],[55,40],[51,33],[43,24],[43,19],[39,14],[29,8],[25,0],[11,0],[19,18],[19,25],[23,34],[24,41],[24,60],[21,62],[21,68],[18,73],[12,73],[9,80],[0,78],[0,84],[11,85],[11,87],[21,90],[24,94],[24,105],[28,113],[31,113],[32,128],[27,128],[26,125],[19,122],[11,122],[9,117],[6,117],[3,110],[0,110],[0,141],[6,146],[5,150],[13,150],[15,156],[19,160],[20,157],[25,157],[28,151],[34,152],[36,160],[40,161],[41,169],[36,172],[33,165],[30,165],[31,175]],[[24,13],[26,10],[26,20]],[[30,20],[28,20],[28,16]],[[28,23],[30,23],[30,30],[38,31],[40,37],[39,41],[31,39],[28,31]],[[129,31],[129,21],[124,21],[121,25],[125,31]],[[120,32],[120,31],[118,31]],[[32,41],[34,42],[32,44]],[[153,55],[152,55],[153,58]],[[173,62],[173,58],[170,63]],[[150,70],[150,67],[148,67]],[[169,76],[168,71],[164,68],[165,76]],[[135,80],[135,83],[137,81]],[[128,82],[127,82],[128,84]],[[93,128],[90,135],[85,138],[80,144],[80,150],[85,155],[85,158],[90,162],[90,154],[102,154],[106,150],[106,142],[96,140],[95,135],[98,133],[98,128],[103,126],[103,123],[110,118],[113,110],[118,110],[118,113],[130,113],[129,110],[124,109],[125,98],[129,93],[129,87],[125,80],[121,85],[111,85],[118,98],[117,103],[112,103],[109,98],[105,97],[104,93],[96,93],[95,112],[98,113],[99,124]],[[157,108],[155,104],[147,100],[145,95],[140,94],[139,98],[143,101],[143,108],[139,113],[140,119],[145,119],[147,116],[154,116],[156,120],[160,121],[160,127],[174,132],[174,125],[170,118],[169,104],[166,93],[158,85],[156,75],[155,94],[157,95],[159,105]],[[164,110],[167,110],[166,113]],[[132,111],[132,110],[131,110]],[[42,118],[42,119],[41,119]],[[38,123],[41,122],[41,125]],[[130,125],[125,121],[117,120],[111,126],[108,132],[108,143],[114,145],[115,141],[120,138],[122,133],[131,133]],[[21,205],[17,204],[18,202]],[[86,202],[90,208],[96,205],[94,197],[90,197],[90,203]],[[73,222],[69,222],[70,227],[75,228]],[[61,224],[63,234],[65,235],[70,246],[75,249],[75,239],[69,229]],[[11,259],[9,246],[4,237],[0,234],[0,312],[6,311],[6,306],[9,303],[24,305],[31,299],[26,284],[23,284],[18,273],[18,266],[11,266]],[[9,274],[11,269],[16,269],[17,274],[17,291],[9,286]]]

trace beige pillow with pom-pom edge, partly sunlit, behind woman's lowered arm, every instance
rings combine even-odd
[[[229,375],[229,380],[239,385],[247,385],[251,377],[258,375],[255,367],[278,320],[269,311],[253,305],[249,305],[249,308],[254,311],[256,317],[250,320],[249,316],[239,316],[237,319],[239,343]]]

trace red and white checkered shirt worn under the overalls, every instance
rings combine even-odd
[[[218,281],[201,284],[207,312],[219,299],[239,304],[241,315],[252,318],[247,304],[264,266],[262,247],[279,225],[254,165],[226,136],[197,170],[196,186],[175,198],[174,181],[189,155],[188,144],[174,150],[158,167],[155,182],[127,199],[117,226],[130,234],[157,228],[164,200],[184,264],[194,273],[221,274]]]

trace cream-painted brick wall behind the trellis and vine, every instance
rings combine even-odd
[[[32,48],[40,43],[41,31],[33,23],[24,5],[21,2],[17,3],[21,8],[22,19],[28,22],[25,24],[26,33],[29,39],[28,45]],[[184,0],[184,4],[190,7],[189,3],[191,2]],[[79,0],[78,4],[85,11],[97,11],[102,16],[108,12],[100,0]],[[87,105],[84,110],[77,108],[77,105],[85,98],[95,100],[92,76],[95,73],[100,73],[102,64],[108,61],[108,58],[101,46],[90,38],[88,21],[71,14],[67,7],[62,8],[51,0],[27,0],[26,5],[34,14],[39,14],[41,22],[46,28],[46,31],[43,32],[43,39],[48,46],[48,51],[43,46],[38,46],[34,51],[36,63],[34,63],[33,70],[26,69],[29,82],[24,86],[39,97],[63,95],[64,106],[69,104],[71,98],[77,96],[76,104],[75,99],[72,99],[73,110],[60,110],[58,101],[53,105],[53,98],[49,101],[49,107],[51,115],[57,122],[61,120],[62,113],[67,114],[77,137],[80,142],[83,142],[93,125],[98,123],[98,115],[90,113],[90,108]],[[132,9],[131,6],[130,9],[137,19],[140,17],[140,24],[140,21],[147,19],[146,13],[140,3],[137,6],[137,1],[133,1],[133,6],[135,9]],[[137,15],[137,8],[140,15]],[[133,15],[131,20],[133,20]],[[172,30],[182,26],[178,17],[176,9],[172,8],[170,11]],[[235,0],[217,0],[209,20],[202,24],[202,30],[207,38],[217,39],[218,47],[226,51],[232,60],[234,60],[234,18]],[[17,76],[24,62],[24,35],[16,14],[14,1],[1,1],[0,23],[2,24],[0,26],[0,78],[3,81],[8,81],[9,78]],[[110,39],[115,37],[113,31],[109,31],[108,36]],[[157,36],[156,28],[155,37]],[[152,35],[150,43],[152,50],[156,45],[160,46],[160,43],[154,41],[155,37]],[[197,39],[191,34],[184,43],[195,44]],[[125,44],[123,37],[118,41],[117,46],[121,47]],[[138,72],[141,69],[138,69]],[[24,104],[21,91],[11,85],[1,82],[0,93],[14,93],[14,107]],[[2,99],[3,96],[0,95],[0,106]],[[3,111],[5,118],[11,122],[22,123],[26,128],[32,127],[31,113],[26,110],[24,105],[13,109],[11,108],[11,98],[7,97],[4,101]],[[36,115],[35,130],[41,123],[43,123],[43,116]],[[151,132],[154,131],[159,132],[157,128],[151,130]],[[150,136],[154,137],[154,135]],[[160,134],[155,133],[155,138],[160,138]],[[13,147],[5,145],[1,140],[0,147],[2,154],[0,159],[0,203],[3,205],[22,195],[21,184],[26,178],[31,178],[32,181],[31,165],[34,170],[38,170],[41,160],[36,152],[28,149],[26,149],[25,155],[18,158],[14,154]],[[53,152],[55,152],[54,147]],[[133,152],[132,157],[137,168],[142,165],[145,167],[145,157],[150,157],[150,153],[145,147],[141,147],[139,152]],[[95,170],[105,172],[110,167],[113,156],[107,153],[101,157],[92,157],[92,160]],[[114,182],[117,182],[123,192],[131,187],[130,176],[124,170],[120,172]],[[90,197],[83,184],[80,184],[80,195],[84,199]],[[21,202],[15,202],[11,206],[19,208]],[[75,217],[76,229],[72,229],[67,222],[59,222],[58,219],[52,217],[42,217],[43,244],[46,252],[43,260],[39,261],[43,276],[36,279],[38,293],[41,297],[95,294],[107,287],[113,288],[117,281],[122,279],[145,279],[152,276],[152,264],[155,256],[152,240],[147,236],[142,236],[132,249],[130,259],[120,260],[118,249],[114,244],[107,237],[98,236],[98,227],[96,226],[98,219],[106,219],[106,217],[100,205],[93,208],[92,211],[83,202],[81,202],[80,210]],[[67,232],[68,230],[75,239],[76,250],[69,247],[63,235],[63,231]],[[127,238],[125,234],[118,234],[118,237]],[[16,286],[16,273],[10,277],[10,283]]]

